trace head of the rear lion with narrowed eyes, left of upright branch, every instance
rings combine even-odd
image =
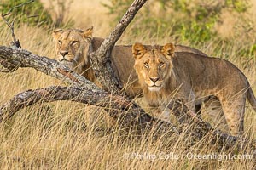
[[[53,32],[57,59],[71,69],[88,64],[92,28],[86,31],[57,29]]]

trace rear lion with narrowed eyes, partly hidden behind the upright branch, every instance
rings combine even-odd
[[[73,71],[82,74],[91,82],[96,82],[99,85],[91,68],[88,54],[96,51],[104,39],[92,37],[92,32],[92,27],[85,31],[78,29],[56,29],[53,32],[53,37],[55,39],[55,51],[58,60],[63,65],[67,65]],[[177,45],[176,50],[205,55],[199,50],[181,45]],[[121,82],[123,82],[123,85],[125,84],[125,92],[131,97],[140,94],[142,90],[137,82],[137,74],[133,69],[134,59],[132,57],[131,45],[114,46],[112,59]]]

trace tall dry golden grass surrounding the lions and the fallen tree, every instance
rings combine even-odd
[[[74,1],[71,11],[77,19],[75,26],[83,28],[94,25],[96,36],[105,37],[111,28],[111,18],[100,6],[101,1]],[[104,1],[106,2],[106,1]],[[108,1],[107,1],[108,2]],[[83,16],[83,17],[81,17]],[[232,20],[232,19],[230,19]],[[48,31],[42,28],[20,26],[16,36],[23,48],[34,54],[53,57],[54,44]],[[0,44],[9,45],[9,30],[0,30]],[[242,37],[241,37],[242,38]],[[172,38],[170,38],[172,39]],[[151,42],[143,35],[122,42]],[[158,40],[162,44],[168,42]],[[247,40],[249,41],[249,40]],[[253,41],[253,37],[252,37]],[[239,40],[242,42],[242,39]],[[181,42],[183,43],[183,42]],[[185,43],[185,42],[184,42]],[[189,45],[189,44],[187,44]],[[256,65],[251,59],[236,56],[241,44],[230,47],[223,44],[223,51],[229,54],[228,60],[235,63],[245,73],[256,93]],[[216,44],[208,43],[200,48],[209,55],[218,55]],[[34,88],[60,84],[32,69],[19,69],[14,73],[0,73],[0,105],[15,94]],[[255,111],[248,105],[245,127],[248,136],[255,135]],[[0,168],[1,169],[253,169],[251,159],[189,159],[187,154],[229,154],[223,153],[203,139],[189,150],[185,149],[187,138],[184,135],[154,140],[151,136],[141,139],[124,134],[121,129],[108,132],[106,112],[95,110],[88,105],[72,102],[55,102],[34,105],[19,111],[8,122],[0,124]],[[255,136],[253,137],[255,139]],[[170,145],[170,140],[172,141]],[[247,151],[244,151],[247,153]],[[239,153],[238,153],[239,154]],[[166,157],[164,157],[166,156]],[[190,155],[188,155],[190,156]]]

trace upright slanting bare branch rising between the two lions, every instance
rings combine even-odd
[[[102,42],[101,47],[95,53],[90,54],[92,67],[96,72],[97,80],[101,82],[103,88],[107,89],[109,92],[119,92],[122,88],[116,69],[114,68],[115,66],[110,59],[113,46],[137,14],[137,11],[146,2],[147,0],[135,0],[111,34]]]

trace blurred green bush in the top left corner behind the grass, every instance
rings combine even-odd
[[[2,14],[9,12],[9,9],[20,5],[21,3],[30,2],[30,0],[2,0],[0,11]],[[26,23],[29,26],[44,26],[48,28],[72,26],[73,21],[64,18],[67,15],[68,5],[71,0],[49,0],[49,8],[44,7],[41,1],[28,3],[21,8],[14,8],[12,13],[6,17],[8,20],[15,20],[16,25]],[[57,10],[55,10],[57,6]]]

